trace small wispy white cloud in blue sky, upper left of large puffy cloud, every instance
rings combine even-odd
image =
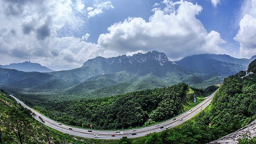
[[[88,7],[87,10],[88,10],[88,18],[91,18],[91,17],[94,17],[98,14],[102,14],[103,13],[103,10],[106,9],[110,9],[110,8],[114,8],[114,6],[112,6],[111,2],[110,1],[107,1],[107,2],[102,2],[100,4],[95,4],[95,9],[92,8],[92,7]]]

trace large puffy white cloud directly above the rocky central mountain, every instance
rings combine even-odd
[[[196,18],[202,10],[191,2],[164,0],[163,10],[154,9],[149,22],[142,18],[128,18],[113,24],[109,33],[101,34],[98,45],[120,53],[158,50],[172,60],[192,54],[224,53],[218,45],[224,40],[218,32],[207,33]],[[178,7],[178,9],[176,9]]]

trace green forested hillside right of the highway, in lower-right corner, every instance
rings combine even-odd
[[[243,78],[236,74],[224,79],[212,103],[192,120],[160,133],[148,134],[132,143],[206,144],[250,124],[256,118],[255,108],[256,74]],[[247,138],[247,143],[242,143],[240,139],[241,144],[249,144],[249,140]],[[255,138],[251,140],[254,144],[252,142],[255,143]]]

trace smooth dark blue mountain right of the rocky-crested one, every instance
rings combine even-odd
[[[175,63],[195,73],[230,76],[240,70],[246,70],[255,58],[256,56],[246,59],[233,58],[226,54],[199,54],[187,56]]]

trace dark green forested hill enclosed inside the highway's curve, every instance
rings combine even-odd
[[[194,92],[184,83],[168,88],[142,90],[91,99],[35,106],[50,118],[74,126],[95,129],[126,129],[154,124],[177,116],[194,104]]]

